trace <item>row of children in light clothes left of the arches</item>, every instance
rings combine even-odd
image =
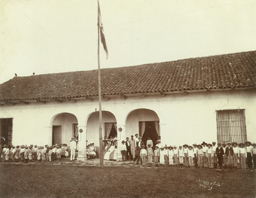
[[[4,162],[52,162],[69,155],[67,144],[53,146],[3,146],[2,160]]]

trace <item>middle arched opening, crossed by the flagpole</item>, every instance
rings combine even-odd
[[[87,121],[87,140],[88,144],[94,143],[95,146],[99,146],[99,112],[93,112],[90,114]],[[114,138],[117,135],[116,132],[116,118],[109,111],[102,111],[102,137],[108,139]]]

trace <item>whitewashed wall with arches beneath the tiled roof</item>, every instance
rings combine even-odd
[[[164,144],[193,144],[202,141],[216,141],[216,110],[245,109],[247,137],[256,141],[256,91],[206,91],[202,93],[171,94],[116,98],[103,101],[102,110],[114,116],[103,118],[106,122],[116,121],[119,139],[131,136],[138,130],[138,121],[147,121],[150,114],[129,113],[135,109],[154,110],[159,118],[160,135]],[[97,116],[92,114],[99,109],[97,100],[52,103],[30,103],[29,105],[3,105],[0,118],[13,118],[13,144],[51,144],[52,121],[63,112],[74,114],[78,125],[87,130],[87,139],[99,145]],[[92,114],[92,117],[90,116]],[[141,120],[140,120],[141,119]],[[136,126],[135,126],[136,124]],[[87,128],[86,128],[87,127]],[[127,133],[125,132],[127,131]],[[86,136],[84,136],[86,138]]]

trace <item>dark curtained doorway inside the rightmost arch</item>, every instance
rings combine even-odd
[[[144,125],[144,126],[143,126]],[[156,145],[157,139],[159,139],[159,135],[157,133],[159,122],[158,121],[145,121],[140,122],[140,136],[141,140],[144,142],[144,144],[147,143],[148,137],[152,139],[154,146]],[[157,127],[157,129],[156,129]],[[145,128],[145,130],[144,130]],[[144,132],[143,132],[144,130]],[[147,145],[145,145],[147,146]]]

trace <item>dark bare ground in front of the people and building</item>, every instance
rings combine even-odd
[[[0,163],[0,197],[255,197],[256,171],[131,162]],[[140,185],[139,185],[140,184]]]

